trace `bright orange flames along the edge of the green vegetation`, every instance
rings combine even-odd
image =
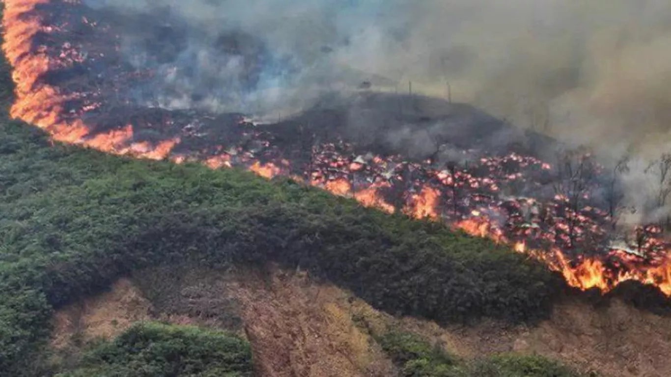
[[[27,123],[32,123],[50,133],[52,140],[70,144],[80,144],[89,148],[95,148],[111,154],[122,154],[135,156],[137,158],[148,158],[152,160],[170,160],[181,163],[191,160],[191,157],[173,154],[174,147],[180,143],[180,138],[164,140],[158,144],[148,142],[137,142],[134,140],[134,126],[127,124],[118,129],[111,129],[106,132],[93,132],[92,129],[81,119],[71,119],[65,117],[65,103],[70,99],[76,98],[76,95],[64,94],[59,88],[47,85],[40,81],[40,77],[53,68],[64,66],[64,63],[56,60],[50,60],[46,54],[46,48],[43,46],[33,46],[34,37],[40,33],[50,33],[56,30],[53,26],[42,25],[42,20],[35,11],[41,4],[49,3],[50,0],[5,0],[5,10],[3,13],[3,25],[5,27],[5,36],[2,49],[7,56],[7,60],[13,67],[12,79],[15,83],[15,102],[10,109],[10,115],[13,118],[22,119]],[[91,25],[93,21],[84,20]],[[61,54],[61,57],[70,56],[70,59],[79,62],[83,58],[81,54],[70,52]],[[152,74],[152,72],[149,72]],[[84,105],[83,111],[95,109],[100,103],[88,103]],[[244,122],[244,119],[242,120]],[[231,168],[238,164],[248,165],[248,169],[265,178],[273,178],[283,172],[289,174],[297,182],[306,182],[313,186],[322,186],[323,189],[334,195],[353,197],[366,207],[376,207],[387,213],[394,213],[396,208],[387,203],[383,192],[390,189],[392,184],[385,180],[374,180],[370,184],[365,184],[360,188],[360,184],[355,184],[355,179],[344,177],[325,178],[321,172],[309,172],[310,178],[301,178],[291,173],[291,166],[287,160],[278,160],[278,162],[262,163],[250,158],[234,158],[236,152],[219,153],[203,160],[203,164],[209,168]],[[511,154],[511,160],[521,161],[523,158],[519,155]],[[234,161],[236,160],[236,161]],[[483,159],[484,166],[496,169],[493,162]],[[382,166],[385,170],[393,165],[388,159],[380,156],[373,156],[370,164]],[[523,162],[527,164],[527,162]],[[541,170],[550,170],[550,164],[539,162]],[[352,162],[344,158],[333,160],[329,163],[329,168],[347,168],[350,172],[360,172],[366,169],[366,164],[361,162]],[[457,172],[437,172],[435,177],[440,184],[446,187],[455,188],[457,186],[471,187],[473,189],[482,189],[488,187],[491,192],[498,192],[501,182],[495,182],[489,178],[476,180],[464,171]],[[520,173],[507,174],[503,180],[518,180]],[[505,183],[505,182],[504,182]],[[449,191],[449,190],[448,190]],[[409,199],[403,213],[417,218],[426,218],[440,220],[442,212],[440,206],[442,201],[450,200],[444,198],[441,191],[429,184],[423,184],[419,193],[409,195]],[[456,197],[451,200],[456,201]],[[556,201],[565,202],[568,199],[558,195]],[[454,202],[456,203],[456,202]],[[467,219],[454,221],[452,226],[462,229],[470,235],[478,237],[489,237],[499,244],[509,244],[515,252],[519,252],[546,263],[550,269],[560,272],[570,286],[583,290],[590,288],[599,288],[602,292],[612,290],[617,284],[625,280],[637,280],[644,284],[654,284],[664,294],[671,296],[671,260],[665,254],[655,264],[643,262],[640,259],[632,258],[630,254],[624,252],[613,252],[611,257],[619,261],[619,270],[607,266],[607,260],[603,257],[582,256],[581,258],[570,258],[565,252],[556,246],[549,248],[530,248],[524,241],[515,241],[504,235],[503,229],[493,221],[491,217],[485,214],[486,211],[478,209],[471,211]],[[577,218],[582,221],[578,215]],[[566,227],[566,224],[560,224],[558,227]],[[550,236],[548,236],[550,237]]]

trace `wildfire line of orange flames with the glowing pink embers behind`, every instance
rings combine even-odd
[[[183,141],[179,137],[157,143],[136,141],[136,128],[133,124],[127,123],[123,127],[115,127],[105,132],[93,132],[81,117],[68,116],[72,111],[66,111],[66,103],[86,96],[81,93],[66,93],[58,87],[46,84],[40,78],[55,67],[79,64],[85,57],[72,51],[70,44],[62,46],[70,50],[60,52],[56,57],[50,56],[46,47],[33,45],[38,34],[50,34],[58,30],[55,26],[43,25],[36,11],[38,5],[49,2],[50,0],[5,0],[5,38],[2,48],[13,66],[12,78],[15,83],[15,103],[11,107],[11,116],[48,131],[53,140],[59,142],[152,160],[169,158],[180,163],[193,159],[191,156],[173,153],[174,148]],[[96,25],[95,21],[89,19],[85,19],[85,22],[91,26]],[[69,60],[63,62],[58,59]],[[144,73],[132,72],[129,76],[142,74]],[[74,113],[82,115],[99,109],[100,106],[95,100],[87,99],[82,108],[74,110]],[[170,120],[166,120],[168,121]],[[244,123],[244,120],[240,122],[243,125]],[[197,127],[187,127],[185,132],[197,133]],[[270,141],[263,140],[260,134],[251,130],[246,132],[245,136],[253,136],[252,140],[258,142],[258,148],[246,150],[238,147],[223,152],[223,147],[219,147],[216,153],[201,158],[201,162],[213,169],[244,166],[265,178],[287,174],[297,181],[309,182],[334,195],[352,197],[367,207],[377,207],[388,213],[401,211],[412,217],[434,221],[450,221],[455,228],[470,235],[490,237],[499,244],[511,245],[516,252],[545,262],[552,270],[560,272],[568,284],[583,290],[599,288],[602,292],[607,292],[625,280],[637,280],[644,284],[654,284],[664,294],[671,296],[671,261],[666,253],[652,262],[619,250],[611,251],[606,256],[572,258],[568,252],[558,247],[558,244],[572,246],[576,242],[574,238],[584,241],[587,234],[603,233],[599,224],[589,217],[588,213],[592,209],[586,208],[582,211],[584,213],[566,211],[568,199],[562,195],[555,198],[554,207],[548,207],[553,213],[568,213],[564,215],[563,222],[560,215],[547,215],[544,218],[550,219],[552,226],[540,227],[536,223],[529,227],[519,226],[527,224],[527,221],[520,220],[521,215],[515,215],[521,205],[515,201],[509,203],[497,198],[501,195],[501,187],[507,184],[532,182],[521,172],[509,172],[505,166],[537,166],[540,172],[538,174],[541,174],[551,169],[546,162],[510,154],[482,158],[475,170],[435,171],[393,157],[372,156],[366,161],[355,160],[338,152],[340,147],[335,144],[323,144],[319,146],[319,150],[313,150],[310,168],[301,168],[300,172],[296,172],[293,169],[295,164],[281,156],[270,160],[272,162],[261,162],[259,154],[262,152],[258,150],[281,153],[273,149]],[[424,178],[417,178],[418,176]],[[397,187],[402,187],[403,191],[394,193]],[[472,194],[460,195],[462,191],[470,191]],[[399,203],[391,203],[390,192],[400,198],[397,200]],[[522,205],[531,203],[527,202]],[[506,205],[511,208],[505,209]],[[464,211],[466,215],[462,215]],[[533,213],[533,210],[529,211],[531,217],[543,217]],[[579,221],[579,226],[568,223],[567,216]],[[599,216],[604,217],[601,214]],[[507,219],[505,223],[501,220],[504,217]],[[569,231],[574,232],[575,236],[567,236]],[[648,239],[649,244],[645,247],[660,248],[655,242],[652,238]],[[616,263],[611,265],[609,260],[615,260]]]

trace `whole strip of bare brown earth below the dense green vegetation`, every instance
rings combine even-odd
[[[302,272],[215,272],[156,268],[121,279],[110,292],[58,311],[54,347],[112,337],[134,321],[161,319],[247,337],[262,376],[395,376],[372,335],[390,326],[437,342],[451,354],[541,354],[603,376],[671,376],[671,318],[619,301],[595,309],[563,303],[529,328],[484,321],[474,327],[395,319]]]

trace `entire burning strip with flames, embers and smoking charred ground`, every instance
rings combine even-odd
[[[159,72],[124,62],[123,25],[98,16],[74,0],[5,1],[3,50],[16,85],[11,116],[59,142],[241,167],[266,178],[291,176],[382,211],[446,221],[510,244],[582,290],[608,292],[635,280],[671,296],[671,244],[663,231],[669,221],[631,231],[618,224],[624,210],[618,176],[628,168],[626,159],[606,167],[577,149],[546,161],[529,148],[484,150],[437,137],[429,138],[433,153],[409,158],[399,148],[374,148],[343,129],[301,118],[264,125],[241,114],[152,107],[136,94]],[[225,48],[246,57],[235,44]],[[323,112],[324,122],[328,114]],[[401,123],[404,116],[395,114]],[[660,207],[671,193],[670,167],[666,156],[650,166]],[[615,237],[620,234],[627,236]]]

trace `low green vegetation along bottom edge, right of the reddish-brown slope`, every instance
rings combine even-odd
[[[458,360],[413,333],[389,331],[378,338],[403,377],[578,377],[570,368],[540,356],[499,355]]]

